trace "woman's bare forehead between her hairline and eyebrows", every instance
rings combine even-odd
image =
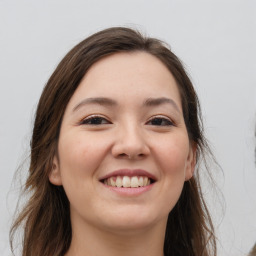
[[[70,104],[85,97],[111,97],[117,101],[171,97],[181,108],[177,83],[168,68],[146,52],[115,53],[87,71]]]

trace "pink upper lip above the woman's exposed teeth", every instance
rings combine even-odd
[[[110,177],[113,176],[128,176],[128,177],[132,177],[132,176],[146,176],[154,181],[156,181],[156,177],[152,174],[149,173],[145,170],[142,169],[119,169],[119,170],[115,170],[113,172],[110,172],[108,174],[106,174],[105,176],[100,177],[99,180],[105,180],[108,179]]]

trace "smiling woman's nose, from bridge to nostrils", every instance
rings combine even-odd
[[[145,131],[138,126],[119,127],[112,147],[112,155],[115,158],[130,160],[145,158],[150,153],[146,137]]]

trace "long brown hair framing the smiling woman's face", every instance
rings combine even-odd
[[[209,150],[202,133],[200,106],[181,61],[169,47],[138,31],[123,27],[100,31],[75,46],[60,62],[47,82],[38,103],[31,140],[31,161],[25,192],[30,199],[10,231],[24,225],[23,256],[61,256],[71,243],[69,202],[63,187],[49,182],[53,156],[57,153],[65,108],[88,69],[104,56],[117,52],[145,51],[160,59],[175,77],[182,98],[184,120],[191,142],[197,145],[197,160]],[[166,256],[216,255],[213,224],[196,174],[185,182],[182,194],[170,212],[166,227]]]

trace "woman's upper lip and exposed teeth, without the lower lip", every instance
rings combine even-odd
[[[140,188],[152,185],[156,178],[144,170],[121,169],[102,177],[100,182],[110,187]]]

